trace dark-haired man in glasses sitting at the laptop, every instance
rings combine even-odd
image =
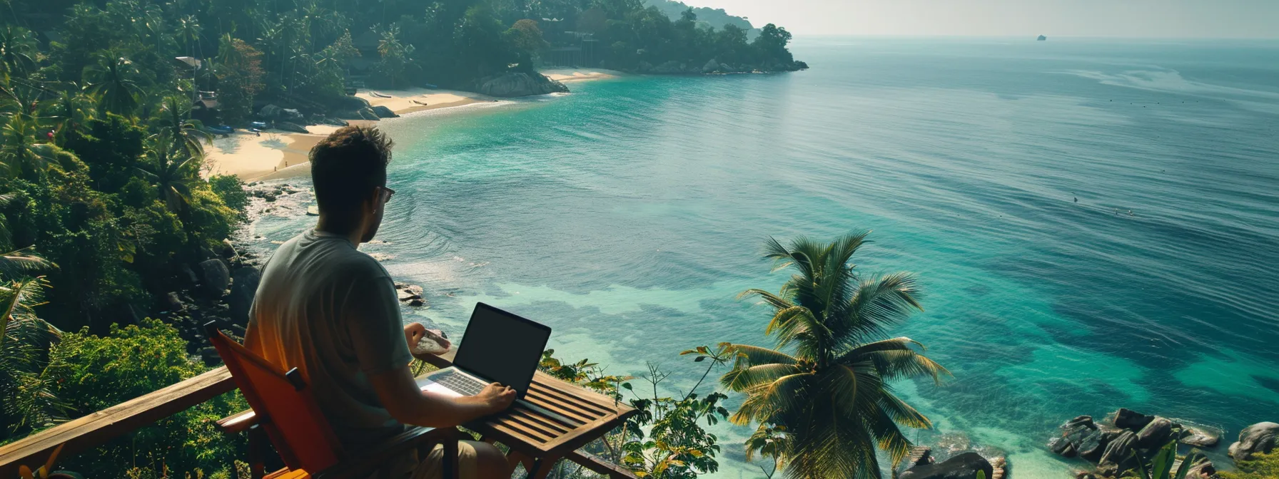
[[[320,410],[348,450],[376,445],[404,424],[453,427],[506,409],[514,390],[498,383],[468,397],[423,393],[409,373],[409,342],[390,275],[356,248],[373,239],[382,209],[391,141],[371,126],[345,126],[311,149],[320,222],[285,241],[262,267],[244,346],[283,368],[299,368]],[[405,341],[408,338],[408,341]],[[444,346],[448,346],[444,342]],[[462,478],[510,478],[491,445],[459,445]],[[441,450],[389,465],[393,478],[439,478]]]

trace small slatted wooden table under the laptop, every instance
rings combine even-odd
[[[451,365],[450,356],[434,356],[428,363],[446,368]],[[627,418],[637,413],[634,407],[542,372],[533,374],[533,383],[528,387],[524,400],[561,418],[515,404],[512,409],[463,427],[480,433],[483,441],[501,442],[532,457],[530,461],[532,464],[524,464],[531,479],[545,478],[561,459],[609,478],[636,478],[625,468],[577,451],[624,424]]]

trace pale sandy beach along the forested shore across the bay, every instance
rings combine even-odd
[[[615,72],[609,70],[553,69],[542,73],[565,83],[616,77]],[[498,100],[475,92],[428,88],[366,89],[356,96],[367,100],[371,106],[385,106],[398,115]],[[376,124],[367,120],[350,123]],[[311,125],[304,134],[266,130],[261,135],[240,130],[226,138],[216,138],[212,146],[205,147],[206,174],[235,175],[244,181],[310,175],[307,153],[335,129],[338,126]]]

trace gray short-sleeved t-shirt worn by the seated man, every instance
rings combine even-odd
[[[308,230],[280,245],[262,267],[244,342],[285,370],[302,369],[345,447],[403,430],[368,383],[413,359],[395,285],[348,239]]]

